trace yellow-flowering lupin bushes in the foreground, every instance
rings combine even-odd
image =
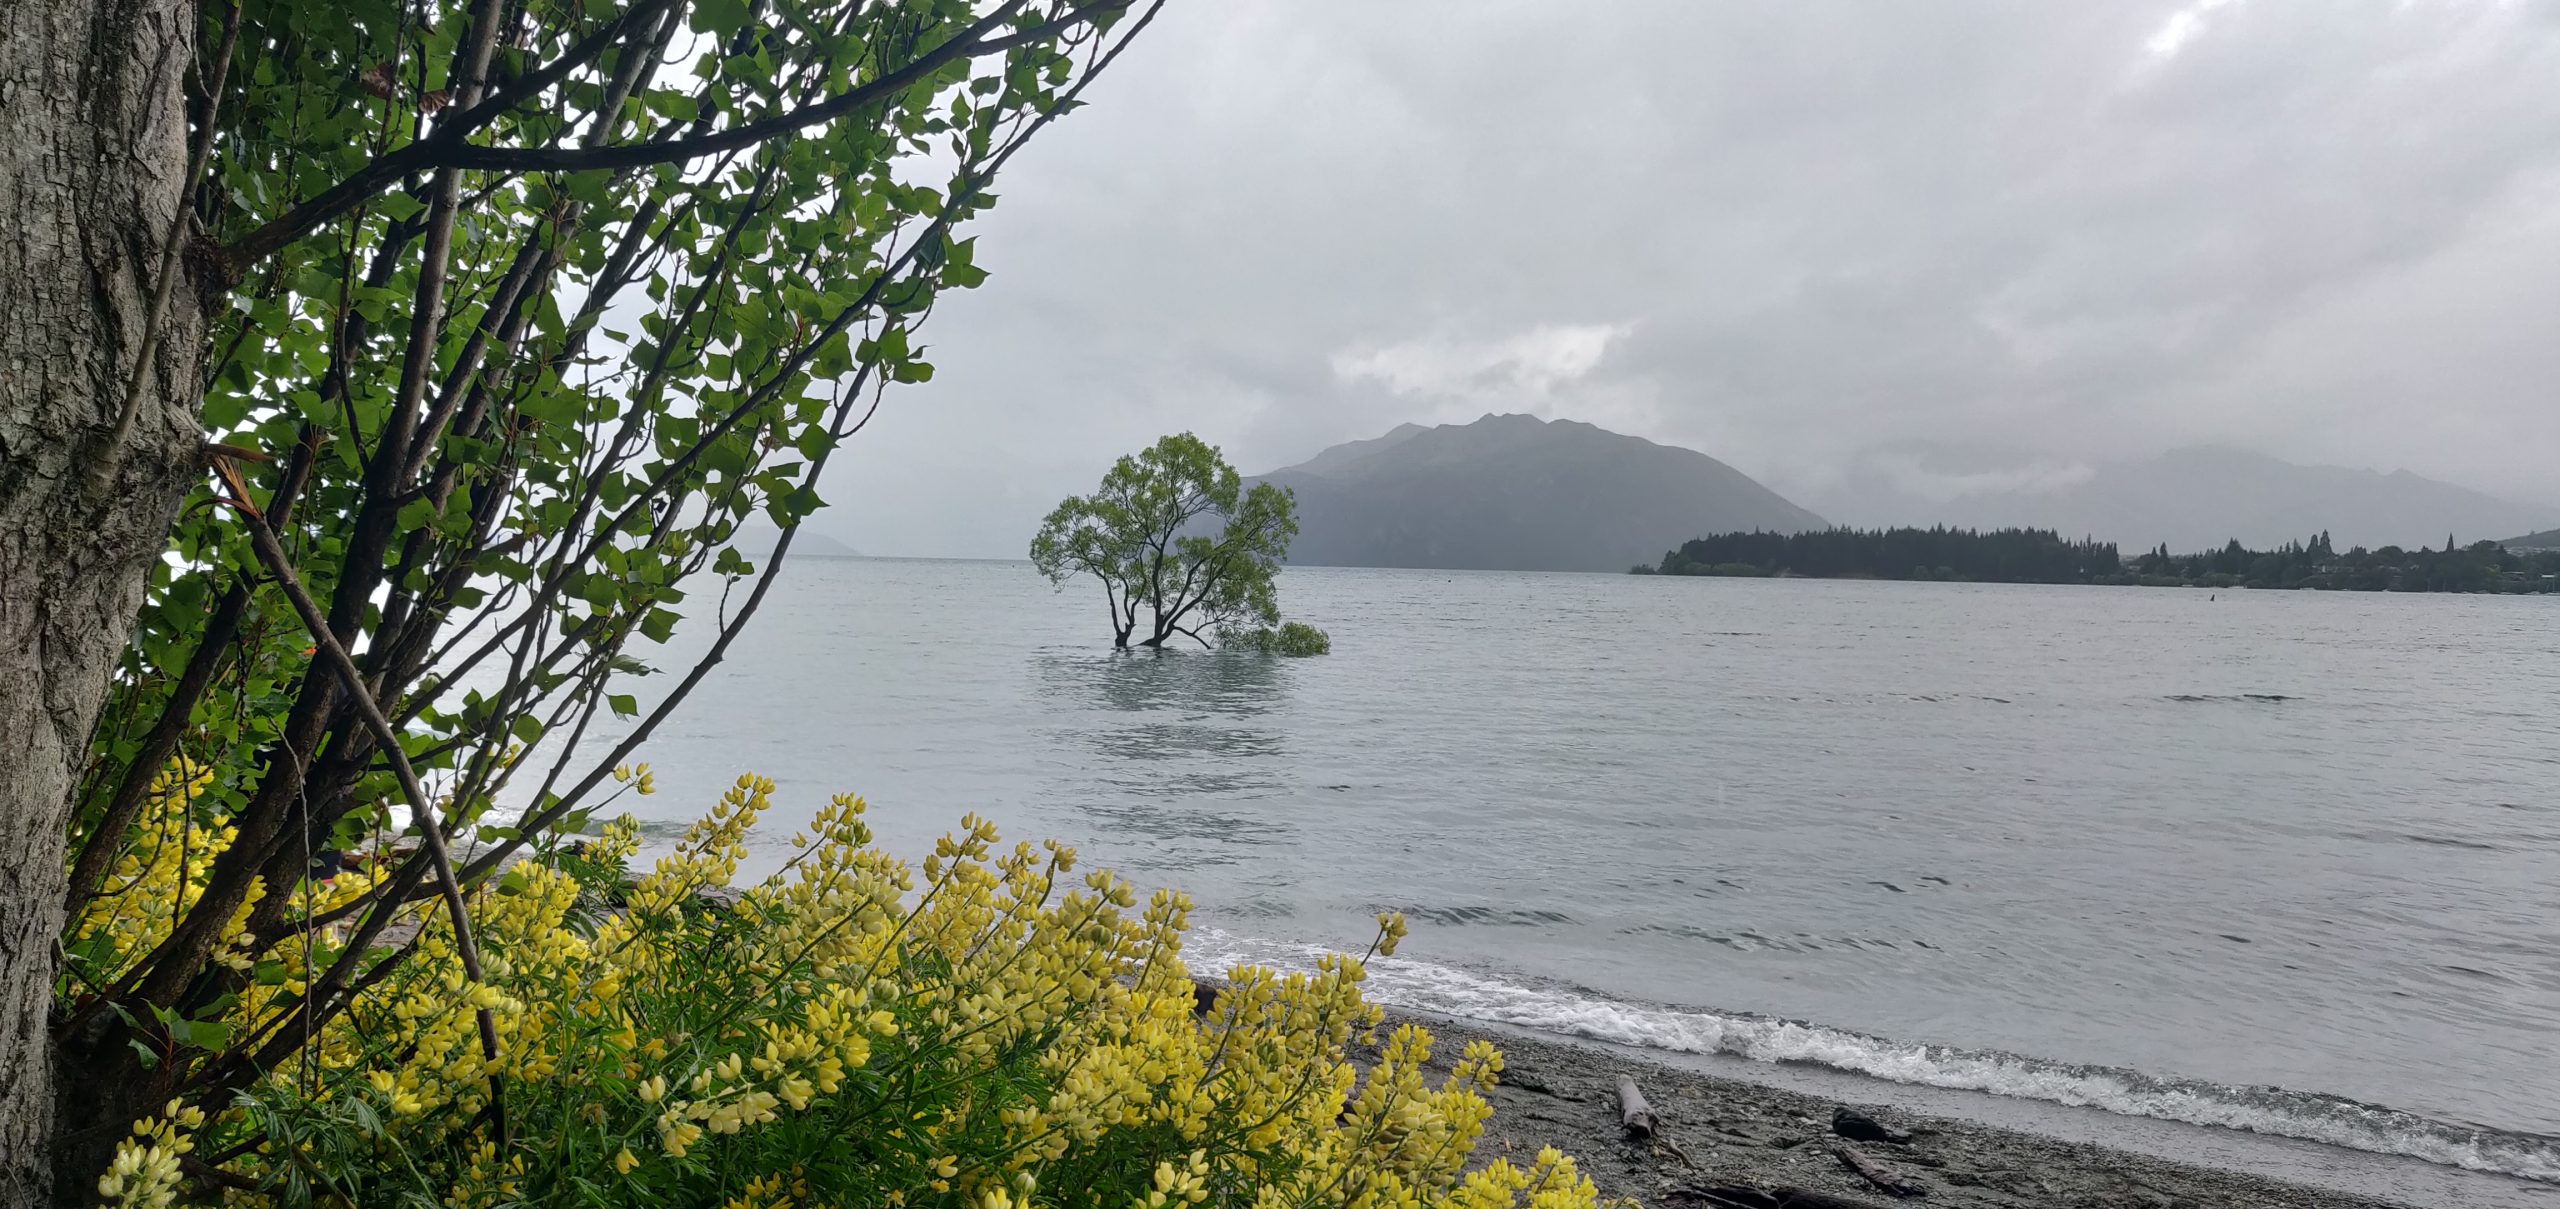
[[[192,827],[164,848],[187,856],[100,899],[92,925],[151,920],[133,935],[148,940],[164,917],[138,899],[184,897],[218,861],[223,838],[166,789],[151,825]],[[440,914],[412,914],[410,958],[297,1063],[228,1112],[172,1107],[131,1135],[108,1204],[174,1204],[179,1160],[200,1155],[225,1155],[228,1196],[282,1204],[1595,1204],[1554,1150],[1467,1171],[1503,1068],[1490,1045],[1431,1086],[1431,1037],[1408,1025],[1362,1071],[1380,1012],[1352,958],[1231,971],[1196,1012],[1190,904],[1139,904],[1078,873],[1073,848],[1004,850],[970,817],[909,866],[837,797],[781,873],[712,897],[771,791],[740,779],[637,881],[627,820],[515,866],[474,904],[484,984]],[[1400,935],[1382,917],[1377,948]],[[343,943],[274,953],[220,1025],[253,1027]],[[504,1114],[535,1145],[492,1140],[474,1007],[499,1019]]]

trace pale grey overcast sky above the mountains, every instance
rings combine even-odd
[[[1487,410],[2560,502],[2560,0],[1175,0],[1088,97],[822,530],[1021,556],[1170,430]]]

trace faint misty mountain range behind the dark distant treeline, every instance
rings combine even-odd
[[[2173,553],[2232,538],[2268,548],[2314,533],[2330,533],[2340,551],[2442,546],[2447,533],[2470,543],[2555,515],[2409,471],[2299,466],[2225,446],[2099,464],[1892,446],[1864,453],[1851,484],[1823,507],[1853,525],[2028,525],[2125,551],[2168,543]]]

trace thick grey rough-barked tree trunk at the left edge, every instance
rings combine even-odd
[[[0,3],[5,1209],[56,1196],[46,1017],[64,812],[197,466],[205,312],[192,282],[174,282],[154,348],[143,336],[187,187],[195,20],[174,0]]]

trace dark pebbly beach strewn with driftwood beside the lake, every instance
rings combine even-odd
[[[1500,1086],[1487,1096],[1495,1114],[1477,1145],[1477,1163],[1510,1158],[1526,1165],[1541,1145],[1554,1145],[1574,1155],[1605,1199],[1636,1199],[1646,1206],[2412,1209],[2504,1201],[2504,1196],[2499,1201],[2473,1199],[2455,1189],[2447,1189],[2447,1196],[2455,1199],[2445,1201],[2424,1194],[2419,1194],[2422,1199],[2383,1199],[2324,1186],[2327,1181],[2299,1183],[2104,1142],[1912,1112],[1871,1099],[1728,1078],[1649,1050],[1388,1009],[1388,1027],[1403,1022],[1431,1030],[1431,1068],[1436,1073],[1446,1073],[1449,1060],[1469,1040],[1490,1040],[1503,1050],[1505,1071]],[[1669,1145],[1626,1140],[1615,1096],[1618,1076],[1636,1078],[1659,1119],[1659,1137]],[[1910,1142],[1841,1137],[1833,1132],[1838,1109],[1853,1109],[1889,1130],[1905,1130]],[[1856,1124],[1851,1130],[1856,1132]],[[1841,1148],[1871,1163],[1889,1183],[1907,1186],[1910,1196],[1894,1196],[1853,1173],[1838,1155]],[[2332,1176],[2350,1181],[2353,1171],[2348,1168],[2355,1160],[2399,1163],[2363,1153],[2337,1158],[2340,1168]],[[2447,1168],[2447,1183],[2463,1183],[2468,1176]],[[2509,1186],[2496,1176],[2478,1178]],[[1751,1189],[1772,1194],[1772,1199],[1751,1201]],[[1787,1201],[1782,1196],[1787,1189],[1812,1194],[1812,1199]],[[2540,1199],[2540,1189],[2527,1186],[2516,1189],[2516,1199],[2506,1204]],[[2560,1204],[2560,1189],[2550,1189],[2547,1204]]]

